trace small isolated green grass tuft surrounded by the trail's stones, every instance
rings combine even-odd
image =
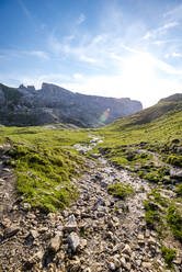
[[[125,200],[126,196],[135,194],[134,188],[130,186],[129,184],[124,184],[124,183],[115,183],[113,185],[110,185],[107,188],[107,192],[121,200]]]

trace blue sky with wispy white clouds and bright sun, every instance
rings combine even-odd
[[[182,92],[182,0],[0,0],[0,82],[141,101]]]

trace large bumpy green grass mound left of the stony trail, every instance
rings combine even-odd
[[[59,147],[13,145],[10,154],[16,163],[18,193],[32,206],[45,213],[61,211],[77,197],[70,178],[79,174],[83,161],[76,152]]]

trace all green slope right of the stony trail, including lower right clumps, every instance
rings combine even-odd
[[[161,196],[162,189],[173,184],[170,168],[182,168],[182,100],[161,101],[95,133],[105,137],[100,151],[109,160],[156,185],[145,203],[147,224],[159,231],[161,240],[170,240],[172,233],[182,241],[182,185],[177,180],[178,197]]]

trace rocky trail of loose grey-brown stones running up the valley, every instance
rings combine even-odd
[[[88,146],[75,148],[84,154],[99,140],[91,137]],[[93,155],[100,162],[87,159],[87,171],[72,180],[77,202],[62,213],[43,215],[16,199],[7,148],[1,147],[0,162],[0,272],[168,271],[157,233],[145,222],[148,182]],[[125,201],[113,197],[107,185],[116,182],[130,184],[136,194]],[[181,253],[175,272],[182,271]]]

